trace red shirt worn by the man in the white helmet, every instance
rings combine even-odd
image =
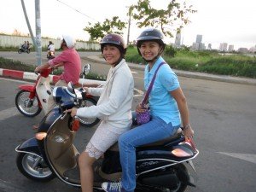
[[[65,80],[66,83],[72,81],[73,84],[79,83],[81,73],[81,59],[79,53],[75,49],[65,49],[61,55],[49,60],[49,66],[53,67],[59,63],[64,63],[64,72],[60,79]]]

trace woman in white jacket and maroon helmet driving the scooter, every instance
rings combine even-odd
[[[111,65],[106,84],[102,88],[84,88],[93,96],[100,96],[96,106],[73,108],[71,115],[97,117],[102,123],[97,127],[85,150],[79,155],[82,191],[93,191],[92,164],[118,141],[119,136],[131,128],[131,104],[134,81],[125,62],[126,45],[118,34],[102,38],[102,55]]]

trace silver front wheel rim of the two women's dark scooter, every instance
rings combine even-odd
[[[44,160],[35,154],[25,154],[22,159],[24,170],[32,177],[49,177],[52,172],[45,165]]]

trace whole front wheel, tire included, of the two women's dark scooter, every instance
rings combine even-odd
[[[19,153],[16,158],[16,165],[25,177],[33,181],[49,182],[55,178],[55,174],[50,171],[43,158],[38,155]]]

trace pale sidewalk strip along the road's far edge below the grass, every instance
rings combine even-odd
[[[105,60],[100,55],[83,56],[81,58],[84,60],[92,61],[92,62],[99,62],[99,63],[106,64]],[[131,62],[127,62],[127,63],[131,69],[144,71],[145,67],[143,65],[139,65]],[[214,75],[214,74],[208,74],[208,73],[188,72],[188,71],[181,71],[177,69],[173,69],[173,71],[177,74],[177,76],[180,76],[180,77],[193,78],[193,79],[207,79],[207,80],[222,81],[222,82],[235,83],[235,84],[256,85],[256,79],[238,78],[238,77],[232,77],[228,75]]]

